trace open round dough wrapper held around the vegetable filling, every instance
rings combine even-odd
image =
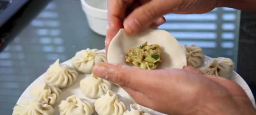
[[[187,65],[186,55],[178,41],[165,30],[147,29],[133,35],[120,29],[108,46],[108,63],[130,64],[125,62],[125,55],[130,49],[140,46],[144,42],[159,44],[163,62],[157,69],[178,68]]]

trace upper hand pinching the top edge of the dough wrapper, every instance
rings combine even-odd
[[[167,13],[205,13],[216,7],[217,0],[109,0],[105,48],[119,29],[127,33],[155,28],[165,22]]]

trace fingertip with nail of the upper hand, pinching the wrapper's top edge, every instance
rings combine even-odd
[[[124,21],[124,29],[127,33],[135,33],[140,30],[140,23],[136,19],[128,19]]]

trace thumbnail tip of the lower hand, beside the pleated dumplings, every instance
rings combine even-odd
[[[93,73],[96,76],[101,78],[105,78],[107,71],[108,71],[108,66],[104,65],[104,63],[97,64],[93,67]]]

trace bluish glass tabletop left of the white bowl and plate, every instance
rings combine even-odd
[[[105,36],[89,29],[79,0],[55,0],[46,4],[31,22],[16,30],[16,35],[0,52],[3,115],[12,113],[26,87],[57,59],[66,61],[86,48],[104,49]]]

